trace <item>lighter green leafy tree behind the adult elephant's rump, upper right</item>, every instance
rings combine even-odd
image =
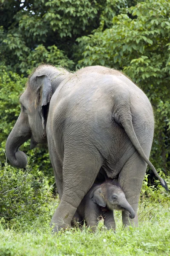
[[[170,168],[170,2],[147,0],[122,8],[112,27],[78,38],[78,67],[106,65],[122,70],[147,94],[155,113],[151,160]],[[155,160],[154,160],[155,159]]]

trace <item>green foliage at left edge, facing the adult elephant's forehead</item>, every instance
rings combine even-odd
[[[23,92],[26,78],[0,66],[0,162],[5,159],[3,149],[6,139],[20,114],[19,95]]]

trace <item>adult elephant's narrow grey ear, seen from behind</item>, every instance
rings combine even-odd
[[[45,130],[47,112],[49,108],[49,102],[52,97],[52,85],[49,79],[49,76],[41,75],[36,76],[37,79],[37,98],[41,97],[41,116],[42,116],[42,125]]]

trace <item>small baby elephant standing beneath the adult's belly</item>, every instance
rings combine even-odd
[[[115,230],[114,209],[126,209],[130,212],[129,217],[135,218],[135,212],[127,202],[120,186],[109,182],[104,182],[101,185],[93,184],[81,201],[74,218],[78,221],[84,219],[91,230],[95,231],[98,217],[102,216],[107,229]]]

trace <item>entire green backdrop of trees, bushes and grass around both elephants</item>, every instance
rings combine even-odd
[[[122,230],[115,213],[116,233],[101,228],[92,234],[84,226],[51,236],[58,199],[52,199],[47,145],[22,145],[29,158],[24,170],[6,163],[4,154],[20,93],[42,63],[70,72],[104,65],[129,76],[153,105],[150,161],[169,186],[170,1],[0,0],[0,255],[169,255],[170,194],[150,175],[141,190],[139,228]]]

